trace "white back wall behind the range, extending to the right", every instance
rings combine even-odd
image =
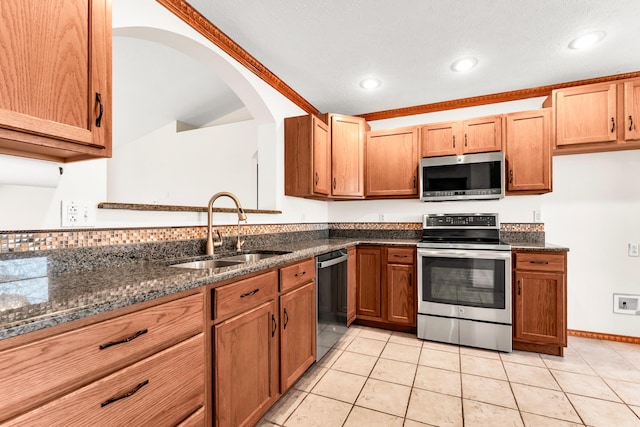
[[[539,108],[542,98],[372,122],[372,129],[460,120]],[[640,294],[640,150],[553,157],[553,192],[498,201],[421,203],[380,200],[331,203],[331,221],[419,222],[425,213],[498,212],[501,222],[543,215],[548,242],[568,254],[570,329],[640,336],[640,316],[613,313],[613,293]]]

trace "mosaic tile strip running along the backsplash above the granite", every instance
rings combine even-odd
[[[235,236],[237,226],[217,226],[223,236]],[[332,222],[314,224],[241,224],[243,236],[321,230],[393,230],[419,231],[419,222]],[[501,231],[544,232],[542,223],[503,223]],[[113,245],[168,242],[206,238],[207,227],[158,227],[124,229],[74,229],[0,231],[0,253],[41,250],[95,248]]]

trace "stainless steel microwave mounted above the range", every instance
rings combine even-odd
[[[420,200],[487,200],[504,197],[504,153],[424,157]]]

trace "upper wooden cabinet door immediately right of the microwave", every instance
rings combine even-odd
[[[506,116],[507,191],[551,191],[550,123],[549,109]]]

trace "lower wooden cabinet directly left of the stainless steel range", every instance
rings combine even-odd
[[[356,317],[376,326],[416,326],[415,247],[359,246]]]

